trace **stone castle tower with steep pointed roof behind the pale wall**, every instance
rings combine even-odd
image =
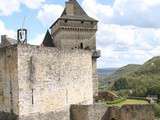
[[[51,36],[48,31],[43,41],[44,46],[92,51],[94,96],[98,93],[96,60],[100,57],[100,51],[96,50],[97,22],[86,14],[76,0],[69,0],[60,18],[50,27]]]

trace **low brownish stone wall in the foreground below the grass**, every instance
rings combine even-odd
[[[154,112],[151,105],[73,105],[71,120],[154,120]]]

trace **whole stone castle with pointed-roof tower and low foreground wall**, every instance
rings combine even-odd
[[[94,104],[97,22],[69,0],[41,46],[1,37],[0,120],[132,120],[132,111],[134,120],[154,118],[148,105]]]

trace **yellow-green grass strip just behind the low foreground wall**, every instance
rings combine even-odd
[[[133,105],[133,104],[149,104],[147,101],[145,100],[137,100],[137,99],[126,99],[125,101],[122,101],[120,103],[117,104],[108,104],[108,106],[118,106],[121,107],[123,105]]]

